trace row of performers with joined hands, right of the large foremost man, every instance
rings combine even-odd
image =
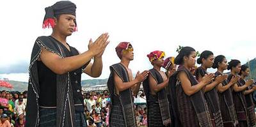
[[[147,55],[153,68],[138,71],[133,78],[131,43],[120,43],[116,54],[121,61],[110,66],[108,80],[110,126],[136,126],[132,95],[141,84],[147,96],[148,126],[255,126],[252,93],[256,86],[252,79],[245,80],[250,70],[239,60],[227,62],[225,56],[214,57],[209,50],[196,60],[192,47],[183,47],[178,56],[164,60],[164,52],[156,50]],[[196,62],[200,67],[195,68]],[[208,73],[209,68],[217,71]]]

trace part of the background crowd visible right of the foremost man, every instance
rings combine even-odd
[[[84,112],[89,127],[109,126],[109,108],[111,107],[107,90],[100,92],[90,91],[83,94]],[[143,91],[140,91],[134,99],[146,99]],[[138,126],[147,126],[147,107],[134,103],[134,117]]]

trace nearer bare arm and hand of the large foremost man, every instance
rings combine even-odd
[[[108,34],[102,34],[94,43],[90,42],[90,49],[83,54],[72,57],[64,57],[53,54],[47,49],[42,49],[40,60],[57,74],[67,73],[68,71],[76,70],[84,64],[88,63],[93,56],[100,54],[108,45]]]

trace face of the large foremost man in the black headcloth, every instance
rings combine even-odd
[[[64,36],[70,36],[76,27],[76,16],[70,14],[61,14],[56,20],[54,29]]]

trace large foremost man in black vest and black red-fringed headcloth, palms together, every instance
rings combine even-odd
[[[45,12],[43,27],[52,27],[52,34],[38,37],[32,50],[26,126],[86,126],[81,73],[100,76],[108,33],[90,40],[88,50],[79,54],[66,40],[77,31],[76,4],[59,1]]]

